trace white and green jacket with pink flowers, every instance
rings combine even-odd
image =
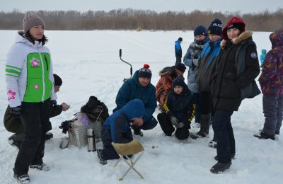
[[[50,50],[42,42],[32,42],[21,33],[8,52],[6,87],[11,108],[21,102],[37,103],[48,98],[56,100]]]

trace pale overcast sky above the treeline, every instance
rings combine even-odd
[[[161,11],[241,11],[258,13],[283,8],[283,0],[0,0],[0,11],[76,10],[110,11],[117,8],[134,8]]]

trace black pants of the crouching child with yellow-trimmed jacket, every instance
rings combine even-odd
[[[157,119],[163,132],[166,135],[171,136],[175,131],[175,127],[173,127],[171,123],[170,116],[166,113],[159,113],[157,115]],[[177,137],[177,139],[187,139],[187,137],[189,137],[189,134],[189,125],[187,123],[185,123],[185,126],[183,128],[176,128],[175,137]]]

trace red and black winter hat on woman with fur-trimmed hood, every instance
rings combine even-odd
[[[245,31],[245,27],[246,23],[244,23],[241,18],[234,16],[228,21],[228,23],[226,23],[224,29],[222,30],[222,38],[224,40],[228,40],[227,30],[231,28],[237,28],[241,33],[243,33]]]

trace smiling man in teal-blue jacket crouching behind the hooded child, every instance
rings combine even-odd
[[[141,137],[143,136],[141,129],[151,130],[157,125],[157,120],[152,116],[157,107],[157,103],[155,87],[150,83],[151,75],[149,65],[144,64],[143,68],[134,73],[132,79],[125,81],[116,96],[115,102],[117,108],[113,110],[113,113],[115,113],[116,110],[121,109],[130,100],[141,100],[144,103],[146,113],[141,119],[134,120],[132,125],[134,134],[140,135]]]

